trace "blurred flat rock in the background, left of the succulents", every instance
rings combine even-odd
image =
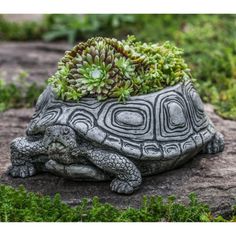
[[[29,81],[44,84],[55,73],[58,60],[70,48],[66,43],[1,43],[0,75],[9,82],[23,70],[29,73]]]

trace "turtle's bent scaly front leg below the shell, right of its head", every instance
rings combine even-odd
[[[131,194],[142,182],[140,171],[128,158],[103,149],[94,150],[89,160],[102,170],[114,175],[111,190],[122,194]]]

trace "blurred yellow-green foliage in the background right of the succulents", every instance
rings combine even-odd
[[[231,119],[236,119],[235,29],[235,16],[202,15],[173,39],[184,48],[204,101]]]

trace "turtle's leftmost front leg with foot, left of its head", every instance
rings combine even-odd
[[[16,138],[11,142],[12,166],[8,173],[13,177],[25,178],[36,174],[36,156],[46,153],[42,141],[29,142],[26,138]]]

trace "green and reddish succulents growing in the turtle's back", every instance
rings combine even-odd
[[[168,42],[141,43],[134,36],[123,41],[91,38],[65,53],[49,84],[63,100],[117,97],[125,102],[129,96],[190,79],[181,55],[182,51]]]

